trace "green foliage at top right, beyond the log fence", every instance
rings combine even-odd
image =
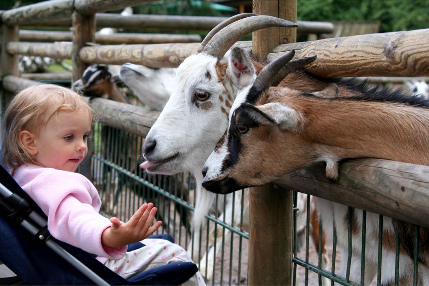
[[[376,21],[380,32],[429,27],[429,0],[297,0],[298,19]]]

